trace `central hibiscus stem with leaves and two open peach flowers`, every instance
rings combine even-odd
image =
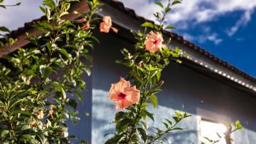
[[[173,120],[165,118],[165,129],[150,127],[147,124],[147,118],[154,121],[154,114],[148,111],[148,102],[157,107],[157,93],[162,91],[161,73],[170,61],[181,63],[180,58],[188,56],[179,48],[169,48],[170,39],[163,44],[162,31],[166,29],[174,29],[173,26],[164,26],[165,15],[170,12],[170,7],[181,1],[168,1],[164,7],[161,2],[156,2],[162,7],[162,13],[156,12],[154,16],[158,21],[158,25],[146,22],[141,26],[145,27],[144,32],[133,32],[135,39],[134,52],[127,49],[121,50],[124,58],[117,61],[129,68],[127,77],[121,77],[118,83],[112,84],[109,91],[109,98],[116,104],[116,108],[121,109],[116,113],[114,122],[116,123],[116,133],[106,142],[112,143],[159,143],[167,140],[166,134],[182,130],[178,124],[191,115],[176,111]],[[151,29],[149,32],[147,29]],[[239,121],[234,126],[230,126],[229,132],[241,129]],[[230,133],[226,132],[225,137]],[[112,133],[111,133],[112,134]],[[217,140],[210,140],[209,143],[216,143]]]

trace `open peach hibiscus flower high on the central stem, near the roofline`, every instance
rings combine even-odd
[[[162,34],[159,32],[154,33],[153,31],[150,31],[144,44],[146,45],[146,50],[148,50],[150,53],[155,53],[162,48],[163,41],[164,39],[162,38]]]

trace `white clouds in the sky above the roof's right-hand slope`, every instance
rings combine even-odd
[[[153,20],[153,12],[159,11],[159,7],[150,0],[119,0],[126,7],[135,11],[145,18]],[[167,0],[161,0],[166,3]],[[233,35],[240,26],[249,22],[253,10],[256,7],[256,0],[184,0],[182,4],[177,4],[173,12],[167,15],[168,22],[178,26],[179,29],[189,28],[190,25],[217,20],[219,16],[238,10],[244,11],[245,15],[240,20],[234,22],[234,26],[227,34]],[[179,27],[181,25],[181,27]]]

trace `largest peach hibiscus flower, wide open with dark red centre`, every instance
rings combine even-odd
[[[116,103],[116,108],[125,109],[140,100],[140,91],[136,86],[131,87],[129,81],[120,78],[118,83],[111,85],[109,98]]]

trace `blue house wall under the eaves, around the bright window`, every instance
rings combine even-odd
[[[108,99],[111,83],[119,77],[125,77],[126,68],[116,64],[121,58],[121,48],[132,48],[132,43],[112,34],[97,34],[100,44],[94,49],[92,70],[92,113],[91,143],[104,143],[115,132],[113,119],[118,111]],[[245,129],[233,134],[235,143],[256,143],[256,97],[237,88],[227,86],[212,77],[171,63],[164,69],[162,79],[165,80],[162,92],[157,94],[159,105],[156,110],[151,108],[155,121],[148,120],[150,126],[163,127],[164,118],[171,118],[175,110],[191,113],[192,117],[184,120],[180,127],[184,131],[169,134],[171,143],[199,143],[200,120],[211,121],[242,121]],[[166,142],[166,143],[170,143]]]

